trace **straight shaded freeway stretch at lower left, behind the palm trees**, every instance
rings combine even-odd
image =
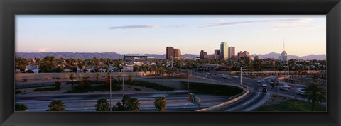
[[[215,96],[208,94],[196,93],[201,98],[201,105],[198,108],[188,101],[188,93],[186,91],[169,91],[157,93],[131,93],[126,94],[139,99],[141,111],[156,111],[153,102],[157,96],[165,96],[168,103],[166,111],[193,111],[202,108],[207,108],[212,105],[220,104],[227,101],[227,96]],[[121,101],[122,94],[114,94],[112,97],[112,105]],[[30,98],[30,99],[27,99]],[[109,94],[63,94],[63,95],[32,95],[32,96],[17,96],[16,103],[25,103],[28,105],[28,111],[45,111],[48,109],[50,101],[58,98],[66,105],[67,111],[94,111],[94,105],[98,98],[108,98]],[[38,99],[38,100],[36,100]]]

